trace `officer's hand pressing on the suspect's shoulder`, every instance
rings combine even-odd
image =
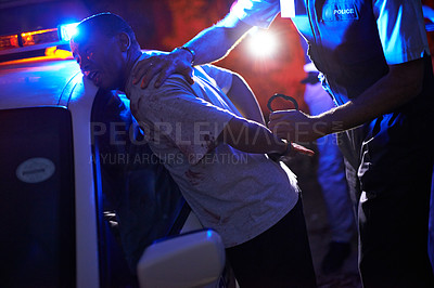
[[[162,52],[158,55],[140,61],[132,70],[132,83],[141,80],[140,87],[146,88],[151,80],[157,75],[155,87],[159,87],[173,74],[181,74],[186,80],[193,83],[193,67],[191,66],[191,54],[182,49],[176,49],[170,53]]]

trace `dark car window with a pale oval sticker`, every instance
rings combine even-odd
[[[0,109],[2,287],[75,287],[71,114]]]

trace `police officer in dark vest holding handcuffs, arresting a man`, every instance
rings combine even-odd
[[[291,17],[309,44],[336,107],[318,116],[270,116],[291,141],[341,132],[359,191],[359,270],[366,287],[434,287],[427,256],[434,80],[420,1],[239,0],[231,12],[168,55],[138,65],[136,81],[224,57],[252,27]],[[142,77],[143,76],[143,77]]]

